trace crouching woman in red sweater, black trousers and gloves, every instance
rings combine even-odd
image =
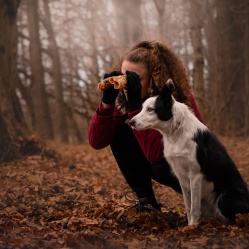
[[[129,49],[104,78],[127,75],[127,89],[103,91],[102,100],[93,115],[88,136],[95,149],[110,145],[117,164],[139,202],[137,211],[147,204],[160,210],[151,179],[181,193],[178,180],[163,157],[162,136],[158,131],[133,130],[127,122],[141,111],[143,101],[151,95],[153,84],[159,89],[171,78],[174,97],[186,103],[203,122],[191,94],[187,70],[178,56],[165,43],[142,41]]]

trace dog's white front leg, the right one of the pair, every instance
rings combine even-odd
[[[190,189],[191,189],[191,210],[190,224],[196,224],[201,217],[201,194],[202,194],[203,175],[200,173],[190,173]]]

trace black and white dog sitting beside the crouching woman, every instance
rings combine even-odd
[[[150,97],[130,120],[136,130],[163,135],[164,156],[178,178],[188,224],[217,217],[229,224],[237,213],[249,213],[249,191],[224,146],[189,107],[174,99],[171,80]]]

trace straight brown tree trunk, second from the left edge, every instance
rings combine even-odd
[[[30,68],[32,74],[32,97],[35,110],[35,127],[39,135],[53,139],[53,127],[44,84],[39,36],[38,1],[27,0],[28,28],[30,36]]]

